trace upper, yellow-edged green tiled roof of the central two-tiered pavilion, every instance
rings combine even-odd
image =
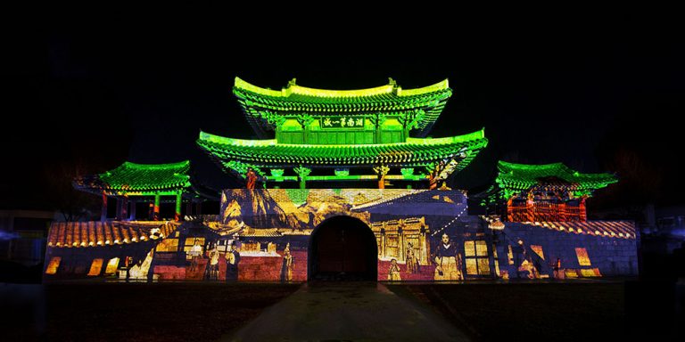
[[[359,90],[315,89],[296,85],[293,79],[285,88],[271,90],[235,77],[233,93],[260,137],[267,135],[268,118],[273,115],[350,116],[417,110],[424,116],[417,123],[416,135],[424,137],[440,116],[452,90],[447,79],[417,89],[402,89],[391,79],[388,85]]]

